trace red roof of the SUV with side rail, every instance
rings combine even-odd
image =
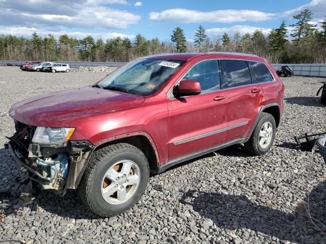
[[[198,53],[198,52],[185,52],[185,53],[162,53],[156,55],[146,56],[144,58],[164,58],[164,59],[180,59],[180,60],[189,60],[194,57],[199,56],[209,56],[215,58],[227,58],[227,57],[241,57],[245,59],[253,59],[253,60],[264,60],[264,58],[259,57],[255,54],[250,53],[240,53],[240,52],[205,52],[205,53]]]

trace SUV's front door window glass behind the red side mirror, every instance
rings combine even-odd
[[[202,93],[220,89],[219,65],[217,60],[207,60],[191,68],[182,80],[196,80]]]

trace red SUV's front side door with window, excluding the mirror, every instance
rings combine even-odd
[[[217,60],[194,65],[181,80],[200,82],[202,93],[168,98],[169,161],[214,148],[225,142],[226,92],[220,90]]]

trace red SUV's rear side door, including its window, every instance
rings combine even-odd
[[[221,59],[219,64],[221,88],[227,91],[228,98],[226,141],[246,138],[256,123],[262,90],[252,83],[246,60]]]

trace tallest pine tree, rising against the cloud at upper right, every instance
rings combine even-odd
[[[293,42],[298,45],[301,40],[310,41],[314,36],[315,27],[317,26],[309,23],[312,20],[311,11],[305,9],[300,14],[294,15],[293,18],[297,20],[295,24],[290,25],[294,27],[294,33],[291,34],[294,38]]]

